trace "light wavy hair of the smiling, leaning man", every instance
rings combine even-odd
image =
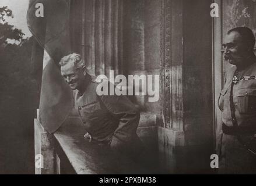
[[[85,67],[85,60],[82,60],[78,53],[71,53],[64,56],[59,62],[59,65],[64,66],[67,63],[73,63],[75,65],[75,70],[83,69]]]

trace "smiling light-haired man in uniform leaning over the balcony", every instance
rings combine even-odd
[[[136,129],[140,113],[127,96],[97,95],[101,82],[87,73],[85,61],[77,53],[65,56],[59,65],[61,75],[74,91],[75,108],[86,127],[85,137],[122,152],[133,153],[139,148]]]

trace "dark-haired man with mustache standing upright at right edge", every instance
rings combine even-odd
[[[255,38],[247,27],[227,32],[225,60],[234,65],[225,74],[220,92],[222,110],[218,152],[219,173],[256,173],[256,56]]]

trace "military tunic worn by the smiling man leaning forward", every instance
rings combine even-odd
[[[100,82],[89,74],[85,79],[84,92],[74,92],[75,108],[93,140],[111,146],[132,144],[138,140],[136,129],[140,113],[135,105],[124,95],[97,95]]]

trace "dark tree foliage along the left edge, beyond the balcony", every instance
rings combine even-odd
[[[31,77],[33,38],[8,23],[12,10],[0,8],[0,174],[33,173],[33,119],[37,84]],[[10,44],[7,40],[20,41]],[[22,151],[20,150],[22,149]]]

